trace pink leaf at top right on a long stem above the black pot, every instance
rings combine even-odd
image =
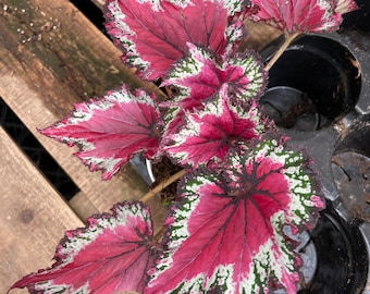
[[[287,33],[338,29],[342,14],[357,9],[354,0],[251,0],[260,8],[250,15]]]

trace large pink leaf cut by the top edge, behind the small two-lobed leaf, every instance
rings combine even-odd
[[[245,9],[237,0],[109,0],[106,26],[123,61],[156,79],[186,54],[188,41],[218,54],[231,51],[243,36]]]

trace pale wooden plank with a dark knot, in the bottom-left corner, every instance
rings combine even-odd
[[[83,223],[1,127],[0,158],[0,293],[7,293],[23,275],[50,267],[64,231]]]

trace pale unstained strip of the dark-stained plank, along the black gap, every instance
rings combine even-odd
[[[1,49],[0,49],[1,51]],[[1,60],[1,57],[0,57]],[[1,63],[1,61],[0,61]],[[98,211],[103,211],[112,206],[112,203],[123,199],[139,197],[146,188],[140,179],[133,179],[130,174],[120,174],[109,182],[102,182],[99,173],[90,173],[77,158],[72,157],[72,150],[53,140],[40,136],[36,127],[48,125],[57,119],[39,99],[38,93],[29,88],[23,79],[15,75],[5,74],[2,65],[0,73],[0,95],[7,103],[16,112],[27,127],[41,142],[46,149],[55,158],[59,164],[67,172],[84,194],[88,195]]]

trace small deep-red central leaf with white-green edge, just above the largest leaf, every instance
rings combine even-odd
[[[233,106],[227,93],[227,85],[223,85],[202,110],[186,113],[185,124],[164,147],[169,157],[192,168],[221,164],[230,150],[248,150],[250,142],[261,138],[267,124],[257,102],[248,108]]]

